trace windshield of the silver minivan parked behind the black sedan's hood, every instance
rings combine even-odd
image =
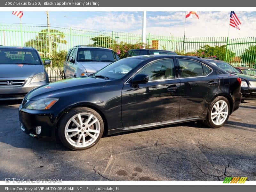
[[[77,61],[100,61],[100,62],[114,62],[119,60],[114,51],[110,49],[101,48],[80,48],[77,53]]]

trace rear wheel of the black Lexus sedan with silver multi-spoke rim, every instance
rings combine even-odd
[[[229,114],[230,106],[227,98],[216,97],[210,105],[204,124],[211,128],[219,128],[227,122]]]

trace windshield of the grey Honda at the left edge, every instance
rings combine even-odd
[[[41,65],[35,50],[0,49],[0,64]]]

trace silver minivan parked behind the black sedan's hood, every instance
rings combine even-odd
[[[68,51],[64,78],[93,74],[116,60],[120,58],[112,49],[77,45]]]

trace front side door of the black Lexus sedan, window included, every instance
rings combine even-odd
[[[146,84],[125,83],[122,90],[123,127],[179,119],[180,80],[174,59],[150,62],[137,74],[147,74]]]

